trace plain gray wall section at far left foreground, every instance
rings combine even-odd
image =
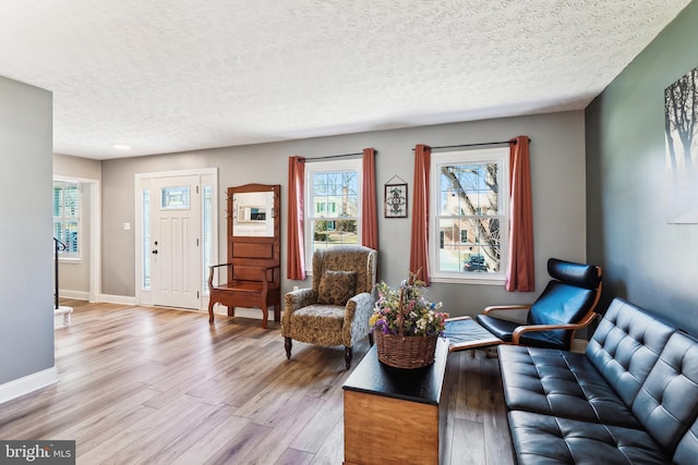
[[[53,366],[51,106],[0,76],[0,384]]]

